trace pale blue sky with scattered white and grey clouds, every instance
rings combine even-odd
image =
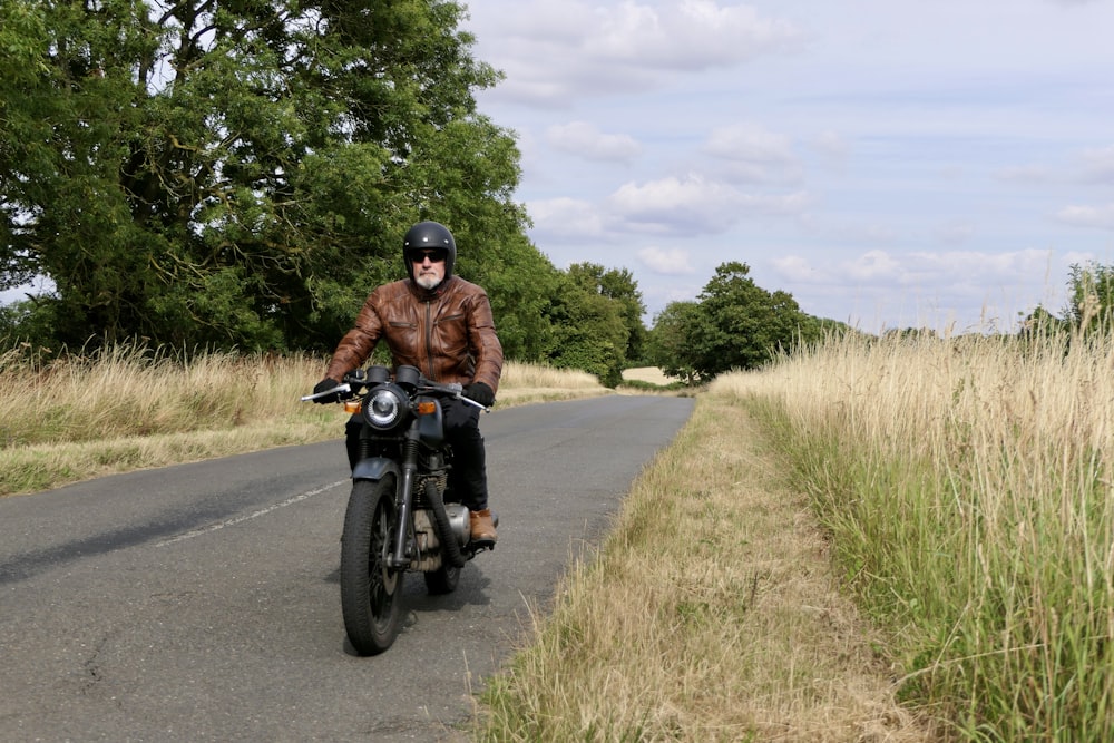
[[[1114,263],[1110,0],[472,0],[558,267],[647,320],[727,261],[870,332],[1007,330]]]

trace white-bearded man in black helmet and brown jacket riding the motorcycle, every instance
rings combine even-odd
[[[466,397],[490,407],[502,373],[502,345],[487,292],[453,275],[457,244],[449,229],[437,222],[420,222],[407,232],[402,257],[409,278],[379,286],[368,296],[314,393],[338,387],[345,373],[363,365],[382,339],[395,366],[417,366],[433,381],[459,382]],[[315,401],[335,400],[336,395],[325,395]],[[494,546],[497,537],[488,508],[480,409],[459,400],[449,400],[443,407],[446,438],[456,454],[449,489],[470,511],[472,542]],[[353,468],[361,427],[359,416],[345,426]]]

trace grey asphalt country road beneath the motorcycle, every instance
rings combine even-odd
[[[408,576],[371,658],[340,615],[340,440],[0,499],[0,741],[453,740],[692,402],[485,417],[499,544],[449,596]]]

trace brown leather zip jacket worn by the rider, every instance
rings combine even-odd
[[[438,382],[483,382],[499,390],[502,345],[487,292],[449,276],[430,292],[409,278],[383,284],[363,303],[355,326],[341,339],[325,377],[340,381],[362,365],[380,339],[395,365],[417,366]]]

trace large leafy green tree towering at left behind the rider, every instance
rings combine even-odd
[[[0,285],[48,276],[31,312],[63,342],[328,348],[401,275],[418,219],[460,236],[462,271],[547,274],[511,201],[514,140],[476,110],[499,76],[462,14],[0,0]],[[527,345],[530,321],[500,310]]]

